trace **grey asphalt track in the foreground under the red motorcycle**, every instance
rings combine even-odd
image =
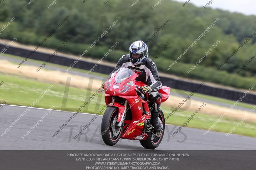
[[[27,107],[5,105],[0,110],[0,135],[8,128]],[[102,116],[96,116],[89,129],[77,139],[73,137],[95,115],[79,113],[55,137],[52,135],[74,113],[53,110],[45,116],[43,122],[22,136],[38,122],[47,109],[31,108],[4,136],[0,136],[0,150],[145,150],[139,141],[120,139],[115,146],[107,146],[100,136]],[[182,133],[172,137],[178,127],[166,125],[162,143],[156,150],[256,150],[256,138],[240,135],[226,136],[225,133],[183,128]],[[71,131],[72,130],[72,131]]]

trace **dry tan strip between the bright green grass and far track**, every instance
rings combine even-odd
[[[0,61],[1,61],[0,72],[5,74],[19,75],[26,78],[33,78],[33,79],[36,79],[37,81],[44,82],[44,83],[49,82],[49,83],[62,84],[62,85],[65,85],[67,78],[71,77],[70,86],[76,87],[79,89],[88,88],[89,78],[86,78],[86,77],[77,76],[69,73],[63,73],[60,71],[51,71],[51,70],[40,70],[40,73],[38,73],[36,71],[31,71],[31,70],[36,70],[37,69],[36,66],[23,65],[22,67],[17,69],[16,67],[17,64],[13,64],[6,60],[0,60]],[[93,90],[99,89],[101,84],[102,82],[100,80],[93,79],[92,89]],[[182,102],[183,100],[184,99],[180,97],[170,96],[169,99],[163,103],[163,106],[176,108],[179,105],[179,103]],[[190,102],[191,103],[189,104],[188,111],[191,111],[191,112],[194,112],[195,110],[197,110],[198,107],[202,105],[201,101],[190,100]],[[224,115],[225,112],[228,112],[228,108],[226,107],[220,107],[207,102],[204,102],[204,103],[206,104],[207,107],[205,107],[202,110],[202,112],[199,112],[199,113],[220,117],[221,115]],[[186,107],[186,105],[184,107]],[[180,109],[182,108],[183,107],[180,107]],[[244,118],[244,116],[247,116],[246,121],[256,123],[256,114],[242,111],[242,110],[233,109],[229,111],[226,114],[226,116],[237,119],[237,120],[241,120]]]

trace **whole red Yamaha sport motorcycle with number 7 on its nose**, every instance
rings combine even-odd
[[[104,84],[106,109],[101,122],[101,136],[105,144],[115,145],[120,137],[123,139],[140,140],[147,149],[155,149],[164,136],[164,114],[160,109],[158,119],[163,124],[163,131],[156,132],[150,119],[148,107],[149,93],[140,92],[143,82],[135,81],[139,75],[128,68],[122,68]],[[157,103],[166,101],[170,88],[162,86],[158,91],[162,94]]]

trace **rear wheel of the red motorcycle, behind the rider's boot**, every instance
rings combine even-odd
[[[159,132],[161,133],[160,137],[156,137],[152,132],[147,132],[148,134],[147,139],[140,140],[140,144],[146,149],[155,149],[157,146],[159,146],[159,144],[161,143],[164,137],[165,121],[164,121],[164,113],[161,109],[160,109],[160,114],[158,115],[158,118],[160,118],[161,122],[163,123],[163,131]]]

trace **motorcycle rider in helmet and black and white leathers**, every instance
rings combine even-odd
[[[160,104],[156,103],[156,99],[159,96],[157,95],[157,91],[161,89],[162,83],[158,76],[156,64],[148,58],[148,46],[146,43],[143,41],[134,41],[129,48],[129,54],[123,55],[119,59],[116,68],[110,73],[108,79],[120,68],[128,68],[138,73],[139,77],[136,80],[146,84],[140,88],[140,91],[144,94],[150,92],[153,95],[154,98],[151,96],[152,100],[149,103],[149,107],[152,108],[150,109],[151,120],[154,129],[157,132],[162,131],[163,126],[158,120]],[[104,83],[102,87],[104,88]]]

